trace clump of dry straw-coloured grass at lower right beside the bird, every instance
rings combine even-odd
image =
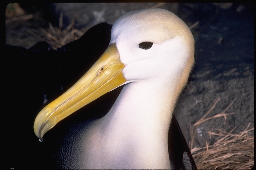
[[[218,100],[213,104],[211,109],[191,128],[191,148],[193,148],[193,141],[195,138],[198,126],[205,121],[209,121],[213,118],[226,117],[234,113],[225,113],[228,108],[234,103],[235,99],[230,105],[221,113],[216,114],[213,117],[206,118],[210,111],[216,106]],[[206,141],[205,147],[194,147],[191,149],[194,161],[198,169],[250,169],[254,165],[254,128],[247,128],[238,133],[233,134],[232,131],[225,132],[221,129],[216,129],[216,132],[212,130],[208,131],[209,138],[213,135],[223,136],[218,139],[213,145],[209,145]]]

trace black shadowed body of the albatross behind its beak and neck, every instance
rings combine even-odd
[[[6,53],[13,57],[7,57],[8,70],[5,71],[10,74],[5,77],[8,83],[4,97],[6,101],[13,101],[11,97],[17,100],[6,104],[6,107],[12,108],[12,113],[7,118],[11,122],[10,128],[4,137],[8,150],[5,153],[6,168],[63,168],[67,162],[59,159],[59,156],[68,152],[62,147],[63,144],[70,143],[68,135],[76,131],[75,128],[84,121],[101,118],[110,110],[122,86],[58,123],[45,134],[42,143],[33,132],[33,123],[40,109],[69,89],[108,47],[111,27],[106,23],[99,24],[79,40],[66,44],[59,50],[50,49],[46,42],[40,42],[30,49],[6,45]],[[12,79],[13,72],[17,73],[15,81]],[[44,95],[48,100],[46,104],[43,104]],[[23,134],[16,130],[21,127]],[[196,169],[175,116],[172,118],[168,143],[170,160],[175,169]],[[183,158],[184,153],[189,157],[190,163]]]

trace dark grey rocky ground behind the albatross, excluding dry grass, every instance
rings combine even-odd
[[[234,113],[210,119],[195,127],[193,147],[212,144],[208,131],[222,129],[233,133],[243,131],[249,123],[254,127],[254,22],[251,4],[176,4],[176,3],[98,3],[98,4],[21,4],[25,13],[6,17],[6,44],[29,48],[46,41],[39,29],[48,22],[63,28],[75,20],[74,28],[88,30],[102,22],[113,24],[122,14],[138,9],[158,7],[179,16],[195,38],[195,67],[188,84],[179,97],[175,115],[188,143],[190,125],[209,113],[212,117],[224,111]],[[30,15],[32,14],[32,15]],[[29,16],[30,15],[30,16]],[[223,112],[224,113],[224,112]],[[225,118],[225,119],[224,119]],[[253,133],[253,132],[252,132]]]

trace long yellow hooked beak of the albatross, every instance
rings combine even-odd
[[[80,80],[39,112],[34,122],[37,137],[42,140],[43,135],[62,119],[124,84],[124,66],[116,45],[110,44]]]

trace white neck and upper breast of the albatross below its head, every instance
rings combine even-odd
[[[132,82],[84,139],[88,169],[170,169],[168,130],[175,100],[171,84]]]

